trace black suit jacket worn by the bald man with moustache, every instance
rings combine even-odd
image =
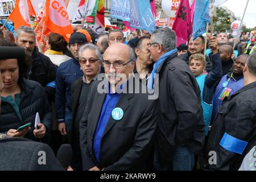
[[[92,83],[80,122],[83,169],[98,166],[104,170],[144,170],[156,127],[156,101],[148,100],[147,93],[122,93],[115,107],[123,110],[123,118],[115,121],[110,116],[101,140],[98,163],[93,152],[93,139],[106,96],[97,92],[99,83]],[[141,82],[139,84],[141,86]],[[131,86],[135,88],[134,84]]]

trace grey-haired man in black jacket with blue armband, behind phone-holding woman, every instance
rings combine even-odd
[[[54,101],[56,68],[49,57],[35,47],[35,39],[36,35],[31,27],[21,26],[16,30],[15,43],[32,56],[27,78],[39,82],[46,89],[48,100]]]

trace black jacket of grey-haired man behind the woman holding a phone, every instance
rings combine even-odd
[[[55,81],[56,67],[49,57],[40,53],[36,47],[32,53],[32,65],[27,78],[39,82],[46,88],[48,100],[54,102],[55,89],[46,85],[49,82]]]

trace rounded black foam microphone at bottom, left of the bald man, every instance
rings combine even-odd
[[[72,147],[70,144],[62,144],[57,152],[57,160],[59,160],[61,166],[67,171],[72,160]]]

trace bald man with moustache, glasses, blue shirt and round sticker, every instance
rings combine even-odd
[[[135,91],[142,83],[132,74],[134,58],[133,49],[123,43],[110,45],[104,53],[105,78],[92,82],[80,122],[84,170],[146,168],[157,110],[148,93]]]

